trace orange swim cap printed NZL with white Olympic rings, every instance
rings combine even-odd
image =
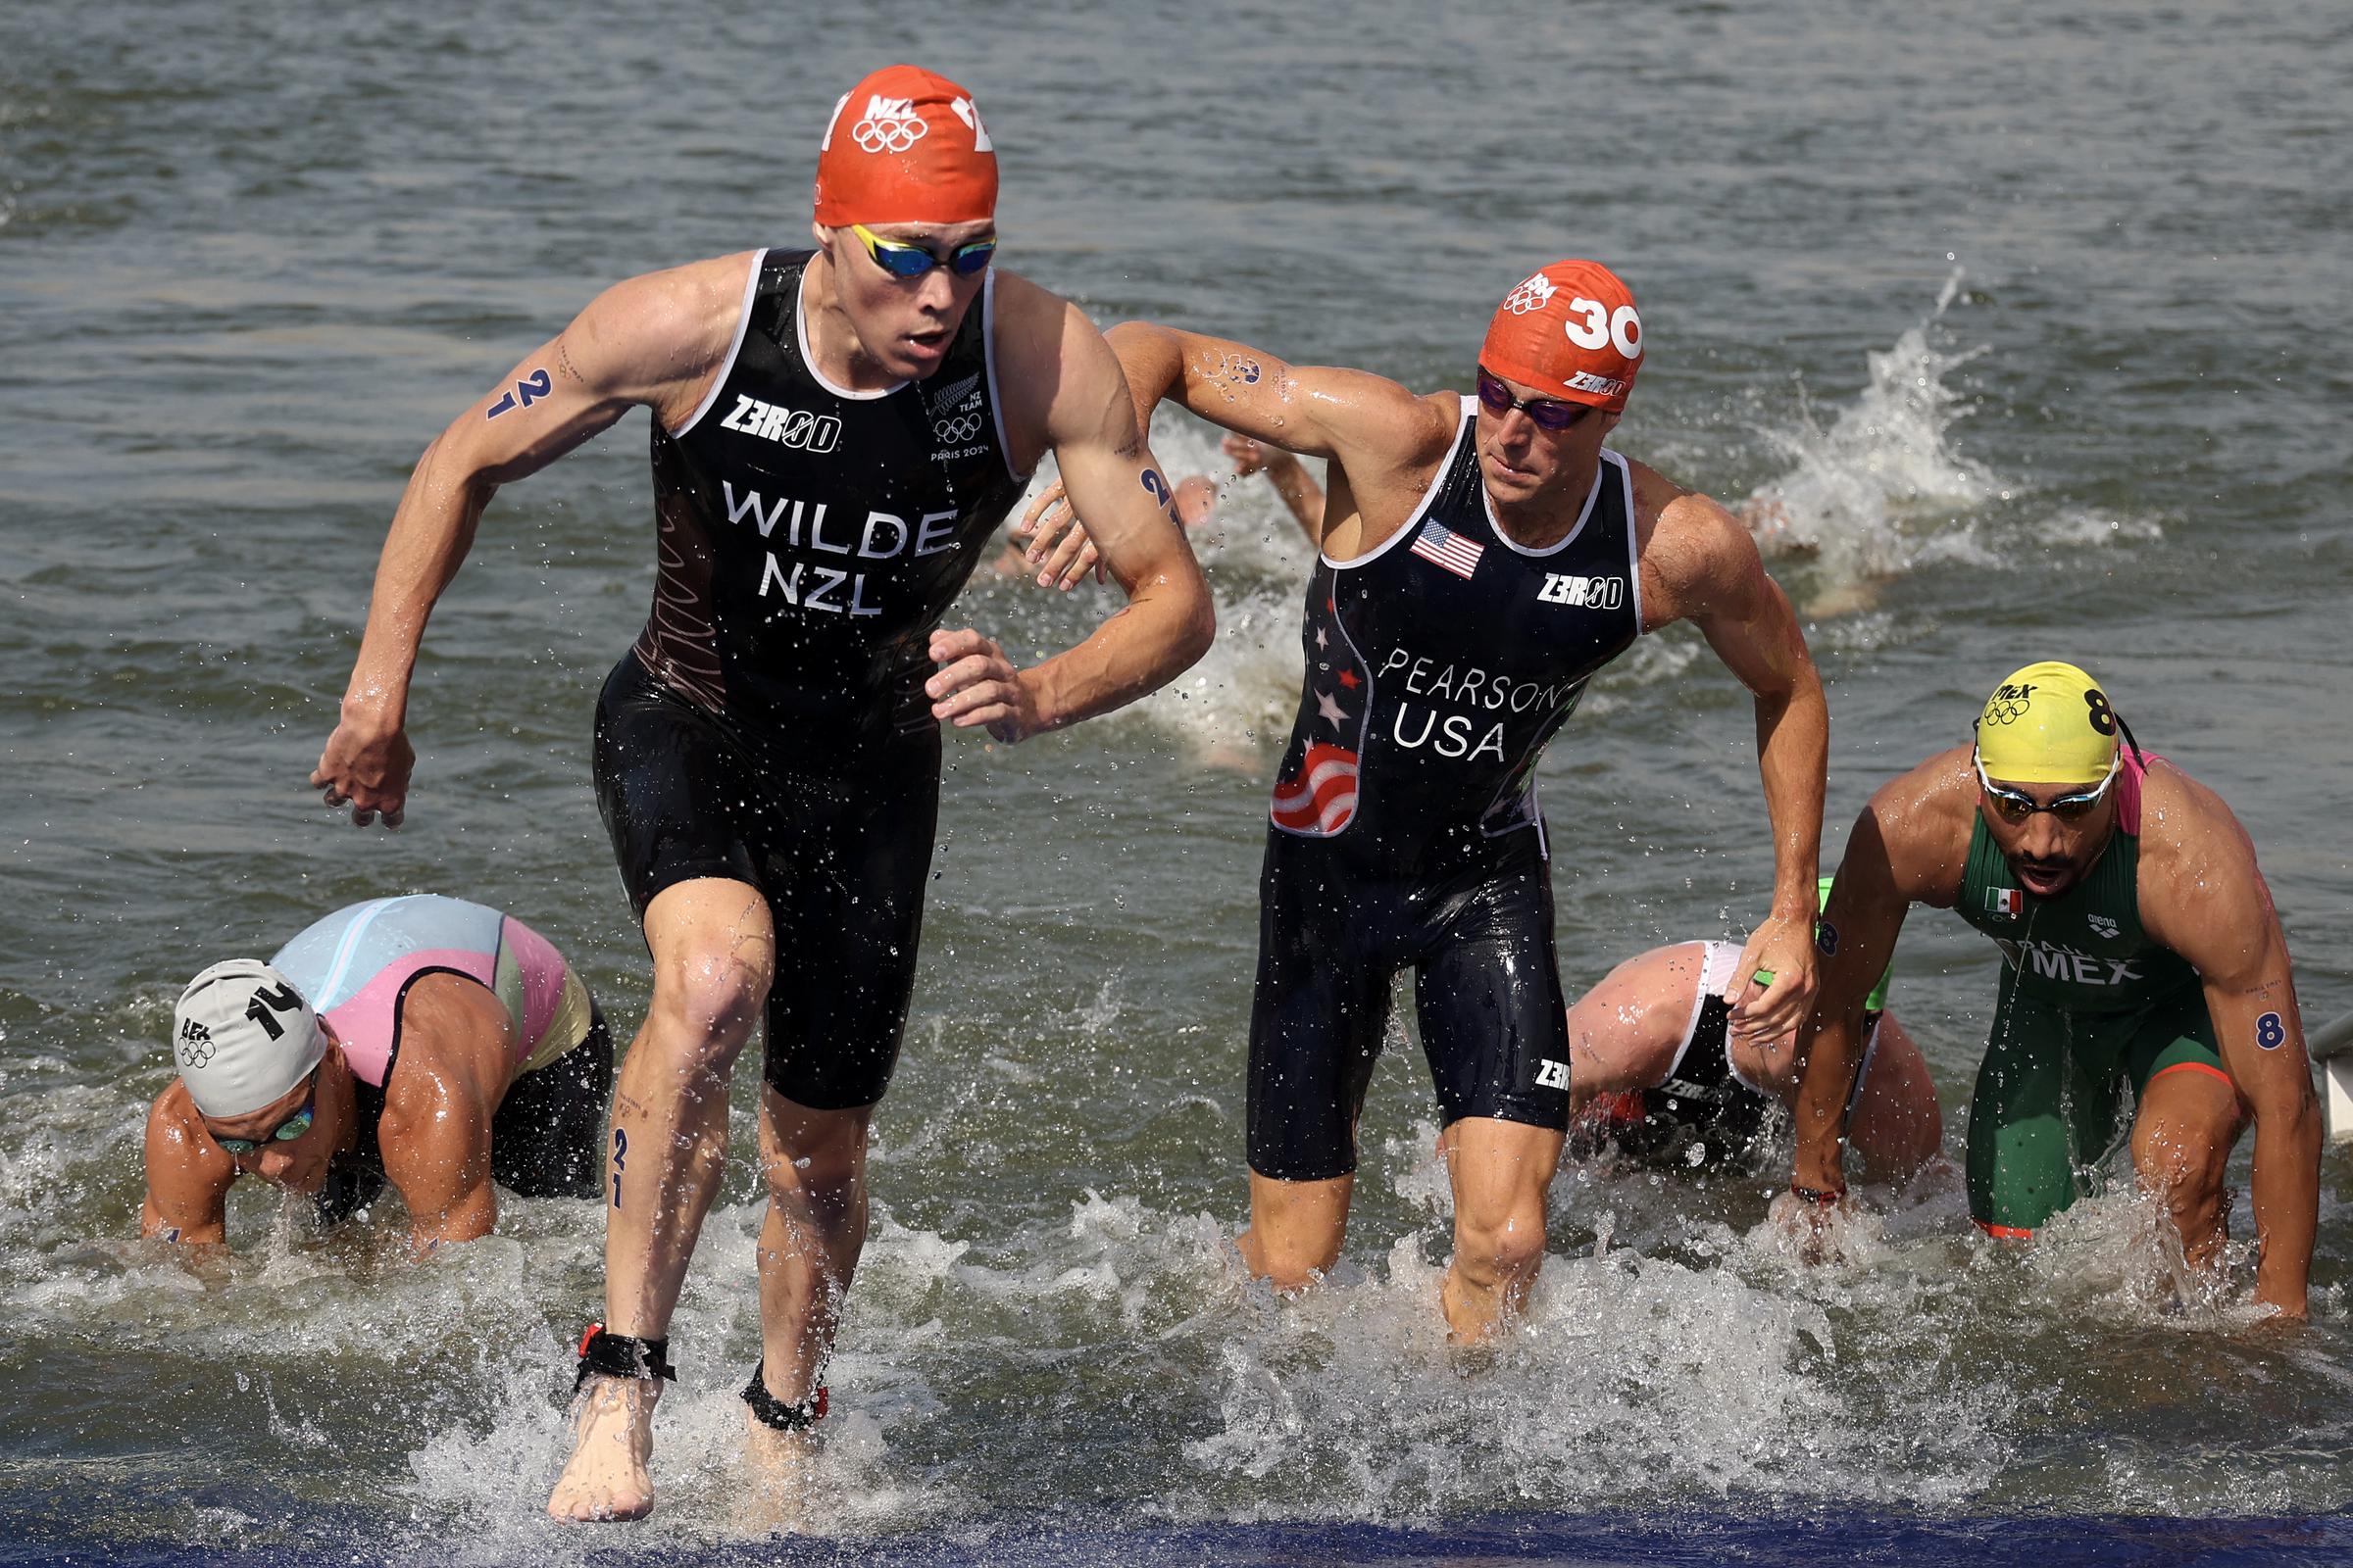
[[[842,94],[816,148],[816,221],[972,223],[998,212],[998,153],[972,94],[882,66]]]

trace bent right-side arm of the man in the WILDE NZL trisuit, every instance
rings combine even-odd
[[[1217,635],[1209,585],[1176,527],[1167,475],[1136,428],[1120,362],[1068,301],[998,280],[998,353],[1016,451],[1052,447],[1127,604],[1075,649],[1026,670],[976,630],[932,632],[932,715],[998,741],[1061,729],[1174,679]]]

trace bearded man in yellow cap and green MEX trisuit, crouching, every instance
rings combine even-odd
[[[2221,797],[2144,752],[2071,663],[2009,675],[1974,745],[1889,780],[1854,820],[1821,922],[1821,1004],[1798,1046],[1784,1225],[1819,1244],[1845,1204],[1864,994],[1915,903],[1955,910],[2002,950],[1969,1100],[1977,1225],[2031,1237],[2129,1135],[2141,1187],[2167,1204],[2188,1260],[2212,1267],[2224,1166],[2252,1119],[2254,1298],[2301,1319],[2320,1110],[2271,889]]]

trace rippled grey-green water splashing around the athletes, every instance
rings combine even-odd
[[[536,1516],[593,1206],[508,1201],[426,1267],[398,1215],[315,1239],[266,1192],[231,1260],[134,1234],[176,987],[327,907],[494,900],[635,1025],[586,741],[649,595],[638,421],[494,503],[421,663],[409,827],[336,832],[301,778],[424,442],[602,282],[795,242],[826,108],[899,56],[976,89],[1007,266],[1106,322],[1461,386],[1529,266],[1609,259],[1652,350],[1617,444],[1802,545],[1772,567],[1831,682],[1826,853],[1998,675],[2073,656],[2233,802],[2308,1020],[2346,1011],[2348,33],[2318,2],[0,9],[0,1556],[2341,1554],[2344,1154],[2299,1333],[2252,1326],[2245,1258],[2177,1305],[2127,1197],[2021,1255],[1925,1180],[1798,1269],[1762,1178],[1600,1166],[1555,1187],[1525,1333],[1464,1361],[1400,1039],[1337,1286],[1249,1286],[1226,1234],[1304,574],[1257,484],[1212,524],[1221,635],[1176,689],[951,743],[816,1540],[739,1509],[748,1079],[661,1512],[628,1530]],[[1219,468],[1200,425],[1155,444]],[[1104,611],[962,607],[1028,649]],[[1694,637],[1598,682],[1544,797],[1572,983],[1758,914],[1748,712]],[[1899,954],[1955,1154],[1995,961],[1934,917]]]

